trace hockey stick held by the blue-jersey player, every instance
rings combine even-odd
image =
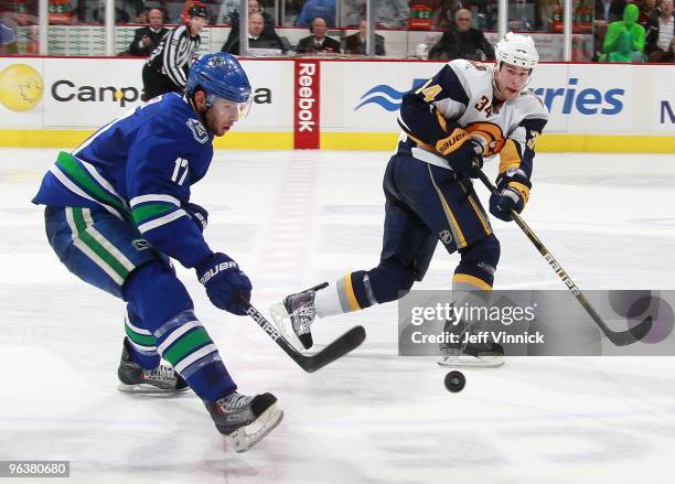
[[[323,368],[329,363],[332,363],[335,359],[346,355],[365,340],[364,327],[354,326],[338,340],[321,349],[319,353],[314,353],[313,355],[303,355],[293,348],[291,344],[283,338],[281,333],[277,331],[275,325],[267,321],[265,316],[250,304],[250,302],[240,295],[237,295],[237,299],[239,304],[246,310],[246,314],[253,318],[258,326],[260,326],[262,331],[265,331],[265,333],[271,337],[275,343],[277,343],[279,347],[283,349],[283,352],[307,373],[314,373],[318,369]]]

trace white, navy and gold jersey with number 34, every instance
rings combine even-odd
[[[444,152],[449,144],[461,144],[468,133],[481,143],[484,157],[500,154],[500,173],[515,169],[529,178],[536,139],[548,121],[548,111],[529,89],[506,103],[495,103],[492,83],[492,66],[456,60],[407,93],[398,123],[404,130],[403,141],[411,141],[413,155],[450,168],[443,157],[428,148]],[[452,137],[456,128],[461,135]],[[427,149],[417,148],[420,144]]]

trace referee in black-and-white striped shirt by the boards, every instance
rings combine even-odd
[[[202,42],[200,33],[208,22],[203,4],[190,9],[188,22],[170,30],[143,66],[143,100],[164,93],[182,93],[192,57]]]

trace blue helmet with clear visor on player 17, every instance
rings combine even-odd
[[[240,105],[239,111],[245,116],[250,106],[250,83],[232,54],[218,52],[200,56],[190,67],[185,93],[192,95],[197,88],[206,94],[208,107],[219,97]]]

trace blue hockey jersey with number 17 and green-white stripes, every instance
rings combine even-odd
[[[157,97],[60,153],[33,203],[105,209],[194,267],[212,251],[182,206],[208,170],[212,141],[182,95]]]

